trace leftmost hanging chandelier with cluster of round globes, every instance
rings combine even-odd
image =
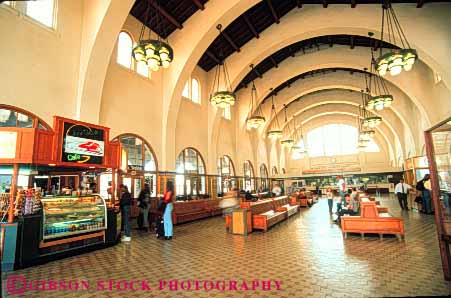
[[[157,0],[157,5],[158,0]],[[133,48],[132,56],[138,64],[145,64],[152,71],[158,71],[160,67],[168,68],[174,59],[174,51],[167,41],[164,41],[157,34],[157,39],[151,38],[152,30],[149,29],[148,38],[144,39],[146,24],[149,21],[150,4],[146,10],[146,21],[142,24],[141,33],[136,46]],[[156,13],[156,28],[161,32],[159,15]]]

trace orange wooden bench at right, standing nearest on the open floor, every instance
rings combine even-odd
[[[399,239],[404,236],[404,221],[402,218],[391,216],[389,213],[379,213],[375,202],[361,202],[360,216],[342,216],[341,230],[345,238],[347,233],[393,234]]]

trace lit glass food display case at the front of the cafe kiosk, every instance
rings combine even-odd
[[[106,204],[99,195],[43,198],[43,239],[106,229]]]

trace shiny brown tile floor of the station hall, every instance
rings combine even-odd
[[[23,297],[450,295],[451,283],[443,280],[433,217],[401,211],[393,198],[381,201],[393,215],[404,217],[404,241],[390,236],[362,240],[353,234],[344,240],[340,228],[330,222],[327,202],[320,200],[267,233],[255,232],[248,237],[226,233],[221,217],[176,226],[172,241],[134,231],[131,243],[4,274],[3,289],[11,275],[19,275],[27,281],[64,280],[66,287],[67,281],[73,282],[73,290],[29,290]],[[173,279],[179,281],[178,291],[170,291],[168,285],[159,289],[160,280]],[[124,290],[122,283],[119,290],[110,291],[109,280],[138,280],[134,284],[137,290]],[[199,283],[199,290],[192,282],[186,290],[188,281],[195,280],[219,282],[219,290],[209,290],[209,282]],[[226,291],[220,290],[224,280]],[[254,280],[256,286],[259,283],[255,291]],[[268,280],[271,289],[263,291],[262,284]],[[85,284],[75,291],[75,281]],[[237,282],[237,290],[230,281]],[[281,281],[281,290],[277,290],[276,281]],[[117,283],[112,285],[114,288]],[[145,291],[147,285],[151,291]]]

